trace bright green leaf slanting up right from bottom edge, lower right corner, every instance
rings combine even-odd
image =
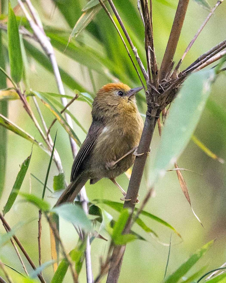
[[[214,241],[208,242],[200,250],[197,250],[185,263],[183,263],[172,275],[168,276],[164,283],[176,283],[181,279],[195,263],[207,252]]]

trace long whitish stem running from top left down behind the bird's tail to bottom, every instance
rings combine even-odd
[[[30,10],[33,18],[37,19],[38,16],[36,16],[36,11],[32,7],[31,2],[29,0],[25,0],[25,1],[27,3],[27,6],[29,7],[29,10]],[[29,21],[29,24],[30,24],[34,34],[36,35],[36,37],[38,39],[38,42],[40,43],[40,45],[42,46],[42,49],[44,50],[44,52],[46,53],[46,55],[50,59],[51,65],[53,67],[53,72],[54,72],[54,75],[55,75],[55,79],[56,79],[56,83],[57,83],[57,86],[58,86],[59,93],[61,95],[65,95],[64,86],[63,86],[63,82],[62,82],[61,77],[60,77],[60,72],[59,72],[59,68],[58,68],[58,65],[57,65],[57,61],[56,61],[55,53],[54,53],[54,50],[53,50],[53,46],[51,45],[48,37],[45,35],[45,32],[43,31],[43,28],[40,25],[40,23],[39,22],[35,23],[32,20],[31,16],[29,15],[27,10],[25,9],[25,7],[24,7],[23,3],[21,2],[21,0],[18,0],[18,2],[19,2],[19,5],[21,6],[23,12],[25,13],[25,16],[26,16],[27,20]],[[61,98],[61,102],[62,102],[64,107],[67,106],[67,99],[65,97]],[[69,126],[71,128],[73,128],[71,117],[67,113],[64,113],[64,115],[65,115],[65,119],[66,119],[67,123],[69,124]],[[71,150],[72,150],[73,158],[75,158],[75,156],[76,156],[76,154],[78,152],[77,151],[77,146],[76,146],[76,143],[73,140],[73,138],[69,137],[69,140],[70,140],[70,144],[71,144]],[[85,187],[83,187],[81,189],[80,196],[81,196],[82,199],[85,200],[84,201],[84,206],[86,206],[86,210],[88,210],[88,198],[86,196]],[[86,251],[87,252],[85,253],[86,256],[88,255],[88,250],[90,251],[90,242],[87,242],[87,246],[86,246]],[[90,257],[91,257],[91,255],[89,254],[89,258]],[[86,261],[87,261],[87,259],[86,259]],[[91,274],[92,274],[92,267],[91,267],[90,263],[91,263],[91,260],[88,259],[88,263],[86,263],[86,265],[89,264],[89,270],[91,270]],[[73,273],[73,268],[71,269],[71,272]],[[92,278],[87,278],[87,280],[92,282]]]

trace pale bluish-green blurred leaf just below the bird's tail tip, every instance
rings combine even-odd
[[[65,203],[51,209],[51,212],[58,214],[65,220],[81,227],[85,231],[92,230],[91,221],[87,218],[81,206],[73,203]]]

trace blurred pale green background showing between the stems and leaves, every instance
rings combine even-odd
[[[40,0],[32,1],[32,3],[37,9],[42,22],[45,24],[47,29],[49,28],[49,32],[51,32],[50,26],[63,29],[64,31],[62,31],[62,33],[58,33],[64,36],[64,38],[68,39],[74,24],[82,14],[81,8],[84,7],[86,1]],[[71,5],[72,16],[69,20],[65,19],[62,13],[59,11],[59,3],[65,5],[65,9],[68,9],[68,7]],[[134,45],[138,48],[138,53],[144,60],[144,30],[138,10],[136,8],[137,2],[135,0],[117,0],[114,1],[114,3],[116,8],[119,9],[119,13],[125,22],[125,26],[129,31],[131,31],[131,37],[134,41]],[[213,7],[215,3],[215,0],[209,1],[211,7]],[[12,4],[16,5],[16,1],[12,1]],[[159,66],[168,41],[176,6],[177,1],[168,0],[166,2],[161,0],[153,0],[154,43]],[[3,8],[4,7],[2,7],[2,9]],[[136,14],[134,14],[134,11],[136,11]],[[18,15],[22,15],[22,12],[18,12]],[[195,1],[190,1],[177,47],[177,52],[174,58],[176,63],[182,56],[190,40],[207,15],[208,10],[198,5]],[[216,13],[207,23],[207,26],[204,28],[201,35],[195,41],[195,44],[192,46],[190,52],[182,63],[181,70],[195,61],[199,55],[225,39],[225,21],[226,6],[225,3],[222,3],[218,10],[216,10]],[[3,42],[6,42],[6,39],[6,35],[3,34]],[[30,42],[37,46],[34,42]],[[136,73],[132,69],[132,64],[127,58],[127,54],[123,49],[120,39],[115,33],[112,23],[107,18],[103,10],[97,14],[93,22],[88,25],[85,32],[82,32],[77,38],[73,38],[73,42],[75,44],[79,43],[80,46],[82,46],[82,44],[85,46],[90,46],[91,49],[107,58],[107,60],[109,60],[116,69],[116,72],[109,72],[109,75],[103,75],[103,73],[108,74],[108,70],[106,70],[105,66],[100,62],[98,63],[98,60],[96,62],[97,70],[91,70],[86,65],[82,65],[81,62],[77,62],[79,60],[76,60],[76,53],[75,59],[73,60],[67,56],[67,51],[63,53],[59,51],[60,49],[55,50],[59,66],[68,72],[73,78],[75,78],[75,80],[79,82],[79,84],[81,84],[81,86],[83,86],[90,94],[93,94],[95,89],[99,89],[102,85],[111,82],[113,76],[117,77],[117,70],[118,74],[119,72],[121,73],[121,77],[118,76],[119,79],[123,80],[124,78],[124,83],[129,84],[131,87],[140,85]],[[88,61],[94,60],[92,56],[88,57],[87,59]],[[54,76],[45,70],[45,68],[41,67],[31,56],[28,56],[28,63],[29,66],[27,79],[31,89],[58,93]],[[102,71],[98,72],[98,68],[100,68]],[[6,69],[8,70],[8,68]],[[92,84],[90,72],[92,72],[95,85]],[[65,90],[66,94],[73,94],[73,91],[66,86]],[[219,109],[222,109],[223,111],[225,111],[224,109],[226,106],[225,91],[225,74],[221,74],[212,87],[210,99],[216,102],[219,106]],[[144,97],[144,93],[142,95]],[[37,114],[31,98],[29,98],[29,102],[34,109],[35,114]],[[41,102],[39,104],[47,125],[50,125],[54,118],[53,115],[45,108],[45,106],[42,105]],[[145,105],[140,97],[138,97],[138,105],[140,112],[145,113]],[[90,106],[88,106],[88,104],[85,102],[75,101],[70,107],[70,110],[83,125],[83,127],[88,130],[91,124]],[[8,117],[19,127],[29,132],[32,136],[35,136],[37,140],[41,141],[39,133],[37,132],[36,128],[34,128],[31,119],[24,111],[19,100],[9,102]],[[85,138],[85,133],[82,132],[77,125],[75,125],[74,128],[80,140],[83,141]],[[67,133],[58,122],[55,123],[54,127],[51,129],[52,137],[55,136],[56,129],[58,130],[56,149],[61,157],[66,179],[69,181],[73,162],[69,139]],[[212,112],[205,108],[194,134],[216,155],[220,156],[224,160],[226,159],[225,116],[213,116]],[[19,165],[25,158],[27,158],[28,155],[30,155],[32,146],[29,141],[16,136],[12,132],[7,133],[7,138],[7,170],[5,188],[0,201],[1,209],[3,209],[3,206],[5,205],[11,188],[14,184],[16,175],[19,171]],[[151,144],[152,153],[148,157],[148,162],[150,163],[153,161],[152,155],[155,155],[154,153],[159,139],[158,129],[156,128]],[[30,177],[30,173],[33,173],[40,180],[44,181],[48,163],[49,156],[46,155],[41,149],[34,146],[30,166],[21,187],[21,191],[31,191],[32,193],[41,197],[42,185]],[[156,185],[154,196],[151,198],[151,200],[149,200],[145,210],[169,222],[182,235],[183,241],[181,241],[177,235],[172,233],[172,245],[168,273],[173,272],[195,250],[200,248],[211,239],[216,239],[214,246],[211,248],[208,254],[197,263],[196,267],[192,269],[192,271],[198,270],[199,267],[203,265],[208,265],[208,270],[219,267],[226,261],[226,199],[224,191],[226,183],[225,164],[221,164],[220,162],[211,159],[197,145],[195,145],[193,141],[190,141],[185,151],[179,158],[178,165],[180,168],[190,169],[203,174],[198,175],[191,172],[182,172],[188,185],[194,211],[202,221],[205,229],[192,214],[191,208],[181,191],[176,172],[172,171],[166,173],[164,178],[162,178]],[[146,176],[148,175],[148,167],[149,166],[147,165],[145,172]],[[48,180],[48,186],[50,188],[53,185],[53,176],[57,174],[58,172],[55,164],[53,163]],[[129,180],[125,174],[118,177],[117,181],[125,190],[127,189]],[[140,200],[144,198],[147,188],[148,184],[146,182],[146,178],[144,177],[140,188]],[[101,180],[95,185],[87,184],[86,191],[88,198],[91,201],[96,198],[119,201],[119,198],[121,197],[118,189],[109,180]],[[46,200],[51,202],[53,205],[55,200],[48,198],[48,195],[50,195],[50,193],[46,192]],[[106,209],[117,219],[117,213],[109,208]],[[24,244],[25,248],[29,250],[31,258],[38,265],[38,209],[30,204],[22,202],[21,198],[18,197],[11,211],[6,215],[6,219],[8,223],[10,223],[10,226],[14,226],[21,220],[28,221],[33,219],[32,222],[24,225],[17,232],[17,236]],[[151,235],[148,235],[142,231],[140,227],[134,225],[134,231],[144,236],[147,241],[144,242],[136,240],[135,242],[127,245],[119,282],[161,282],[163,279],[169,249],[166,244],[169,243],[171,230],[168,230],[166,227],[163,227],[160,224],[149,220],[148,218],[143,217],[142,219],[145,220],[145,223],[148,224],[149,227],[157,232],[159,238],[156,239],[151,237]],[[1,227],[1,232],[3,231],[4,229]],[[64,221],[60,222],[60,231],[66,248],[68,251],[70,251],[77,243],[78,236],[76,231],[73,229],[72,225]],[[42,250],[43,262],[51,260],[49,226],[45,220],[43,220],[42,228]],[[92,266],[94,277],[99,272],[99,258],[100,256],[105,256],[107,250],[107,242],[101,239],[95,239],[93,241]],[[22,267],[10,243],[5,245],[0,250],[0,257],[2,261],[16,267],[22,272]],[[13,271],[8,270],[8,272],[12,277],[15,276]],[[47,282],[50,282],[52,276],[53,269],[50,266],[44,270],[44,277]],[[64,282],[71,282],[71,275],[69,272],[67,273]],[[80,274],[80,282],[86,282],[84,267]],[[103,282],[105,282],[105,279],[103,279]]]

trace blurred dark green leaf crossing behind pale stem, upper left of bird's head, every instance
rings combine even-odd
[[[44,67],[49,72],[53,73],[52,65],[49,61],[49,58],[45,56],[44,53],[39,51],[36,47],[30,44],[28,41],[24,40],[24,47],[26,51],[29,53],[31,57],[33,57],[42,67]],[[78,89],[81,92],[86,91],[84,87],[82,87],[79,83],[76,82],[74,78],[72,78],[67,72],[65,72],[62,68],[59,68],[60,76],[62,82],[67,85],[70,89]]]

